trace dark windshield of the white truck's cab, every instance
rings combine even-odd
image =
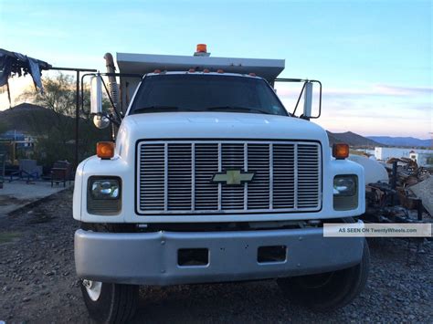
[[[228,111],[288,116],[261,78],[168,74],[143,78],[130,114],[164,111]]]

